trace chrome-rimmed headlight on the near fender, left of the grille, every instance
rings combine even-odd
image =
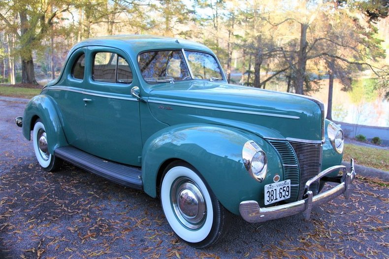
[[[258,154],[258,155],[257,155]],[[257,156],[256,156],[257,155]],[[263,159],[263,167],[259,170],[253,170],[253,161],[255,157]],[[249,175],[258,182],[262,182],[267,173],[266,153],[253,140],[247,141],[242,149],[243,164]]]

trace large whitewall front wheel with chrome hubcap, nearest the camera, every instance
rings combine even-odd
[[[165,170],[161,203],[170,227],[193,247],[208,247],[228,231],[230,213],[187,163],[173,162]]]

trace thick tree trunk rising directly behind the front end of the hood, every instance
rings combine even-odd
[[[308,24],[301,24],[300,47],[298,50],[297,72],[295,79],[296,94],[304,94],[305,67],[307,65],[307,30]]]

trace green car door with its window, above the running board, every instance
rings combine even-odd
[[[84,91],[87,152],[140,166],[142,141],[137,85],[128,56],[115,48],[89,47],[88,87]],[[139,158],[138,158],[139,157]]]

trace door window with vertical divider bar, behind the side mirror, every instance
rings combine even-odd
[[[131,83],[132,72],[121,56],[111,52],[98,52],[94,58],[92,78],[99,82]]]

